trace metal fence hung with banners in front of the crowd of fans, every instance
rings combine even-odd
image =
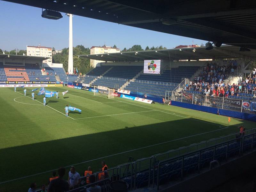
[[[196,93],[172,92],[172,101],[256,114],[256,101],[213,97]]]

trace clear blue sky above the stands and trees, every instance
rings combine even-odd
[[[27,45],[54,47],[61,50],[68,47],[69,19],[65,13],[59,20],[49,20],[41,17],[42,9],[9,3],[0,0],[1,27],[0,49],[26,49]],[[134,44],[146,46],[163,45],[172,49],[178,45],[205,44],[206,41],[188,37],[170,35],[146,29],[119,25],[107,21],[86,17],[73,17],[73,46],[84,47],[113,46],[121,50]]]

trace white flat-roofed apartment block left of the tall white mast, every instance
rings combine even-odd
[[[43,63],[52,65],[52,48],[44,46],[28,46],[27,55],[37,57],[50,57],[49,59],[43,60]]]

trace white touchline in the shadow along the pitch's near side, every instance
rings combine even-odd
[[[228,127],[226,127],[225,129],[227,129],[227,128],[228,128]],[[65,166],[65,168],[70,167],[70,166],[74,166],[74,165],[79,165],[79,164],[88,163],[88,162],[91,162],[91,161],[96,161],[96,160],[99,160],[99,159],[104,159],[104,158],[111,157],[111,156],[116,156],[116,155],[120,155],[120,154],[124,154],[124,153],[128,153],[128,152],[132,152],[132,151],[137,151],[137,150],[140,150],[140,149],[145,149],[145,148],[154,147],[154,146],[157,146],[157,145],[162,145],[162,144],[170,143],[170,142],[173,142],[173,141],[183,140],[183,139],[187,139],[187,138],[190,138],[190,137],[195,137],[195,136],[198,136],[198,135],[203,135],[203,134],[206,134],[206,133],[211,133],[211,132],[215,132],[215,131],[220,131],[220,130],[223,130],[223,129],[217,129],[217,130],[214,130],[214,131],[198,133],[198,134],[196,134],[196,135],[190,135],[190,136],[187,136],[187,137],[182,137],[182,138],[179,138],[179,139],[174,139],[174,140],[170,140],[170,141],[165,141],[165,142],[162,142],[162,143],[157,143],[157,144],[149,145],[149,146],[146,146],[146,147],[141,147],[141,148],[132,149],[132,150],[129,150],[129,151],[124,151],[124,152],[121,152],[121,153],[116,153],[116,154],[112,154],[112,155],[108,155],[108,156],[104,156],[104,157],[99,157],[99,158],[92,159],[92,160],[88,160],[88,161],[84,161],[84,162],[81,162],[81,163],[68,165],[68,166]],[[33,175],[28,175],[28,176],[20,177],[20,178],[17,178],[17,179],[12,179],[12,180],[8,180],[8,181],[3,181],[3,182],[1,182],[0,184],[7,183],[7,182],[11,182],[11,181],[15,181],[15,180],[20,180],[20,179],[25,179],[25,178],[28,178],[28,177],[32,177],[32,176],[36,176],[36,175],[40,175],[40,174],[44,174],[44,173],[48,173],[48,172],[52,172],[52,171],[56,171],[57,169],[58,169],[58,168],[52,169],[52,170],[49,170],[49,171],[45,171],[45,172],[41,172],[41,173],[36,173],[36,174],[33,174]]]

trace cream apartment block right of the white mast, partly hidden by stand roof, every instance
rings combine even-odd
[[[120,52],[120,49],[113,48],[113,47],[108,47],[108,46],[105,46],[105,45],[102,46],[102,47],[92,46],[91,49],[90,49],[90,54],[119,53],[119,52]],[[90,60],[90,66],[95,68],[96,65],[100,62],[104,62],[104,61],[91,59]]]

